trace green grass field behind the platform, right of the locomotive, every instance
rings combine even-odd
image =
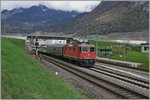
[[[89,42],[96,46],[95,40]],[[111,59],[142,63],[142,69],[149,69],[149,53],[142,53],[140,46],[99,41],[98,48],[111,48],[112,55],[109,57]]]

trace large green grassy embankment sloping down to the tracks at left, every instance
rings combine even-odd
[[[81,91],[69,86],[25,51],[23,40],[2,40],[3,99],[82,99]]]

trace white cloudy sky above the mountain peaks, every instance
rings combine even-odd
[[[33,5],[45,5],[49,8],[60,10],[76,10],[79,12],[88,12],[95,8],[100,1],[1,1],[1,11],[4,9],[23,7],[29,8]]]

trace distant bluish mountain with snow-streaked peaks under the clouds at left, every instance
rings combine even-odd
[[[55,25],[59,21],[68,20],[79,14],[76,11],[50,9],[44,5],[3,10],[1,12],[2,32],[4,25],[7,33],[41,31],[47,25]]]

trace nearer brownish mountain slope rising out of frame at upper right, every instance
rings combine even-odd
[[[77,34],[95,34],[97,29],[99,34],[148,30],[149,1],[101,1],[91,12],[67,23],[70,27],[57,27]]]

